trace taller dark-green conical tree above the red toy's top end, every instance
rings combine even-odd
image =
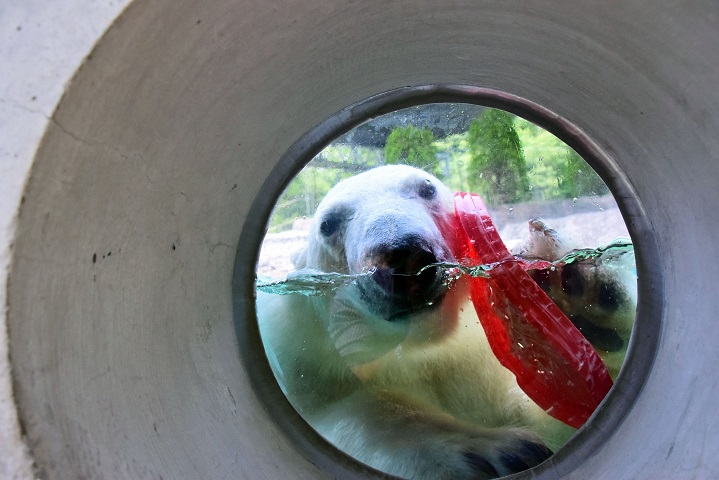
[[[467,132],[470,160],[467,181],[491,204],[529,198],[529,180],[514,116],[487,109]]]

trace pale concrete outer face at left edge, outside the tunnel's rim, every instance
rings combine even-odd
[[[17,208],[65,85],[127,3],[4,0],[0,5],[0,478],[32,478],[12,402],[5,322]]]

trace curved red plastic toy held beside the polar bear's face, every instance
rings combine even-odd
[[[478,195],[455,195],[455,255],[471,266],[471,296],[492,351],[524,392],[554,418],[579,428],[612,380],[589,342],[507,250]]]

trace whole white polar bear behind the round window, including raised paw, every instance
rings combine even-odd
[[[263,342],[292,405],[344,452],[403,478],[495,478],[541,463],[573,433],[499,364],[469,306],[467,282],[449,287],[435,266],[455,260],[443,236],[452,215],[452,192],[424,171],[393,165],[361,173],[322,200],[295,267],[363,275],[320,296],[258,292]],[[566,249],[541,222],[530,227],[523,254],[558,257]],[[611,335],[595,317],[620,331],[624,343],[610,348],[620,355],[631,295],[592,272],[558,275],[536,280],[550,294],[560,290],[565,308],[574,302],[563,287],[604,282],[601,314],[575,310],[600,340]]]

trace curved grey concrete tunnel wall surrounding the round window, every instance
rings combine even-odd
[[[18,206],[9,350],[38,474],[376,476],[257,366],[257,205],[318,125],[446,85],[526,99],[590,139],[638,247],[622,377],[517,478],[719,474],[718,27],[711,2],[133,2],[69,84]]]

